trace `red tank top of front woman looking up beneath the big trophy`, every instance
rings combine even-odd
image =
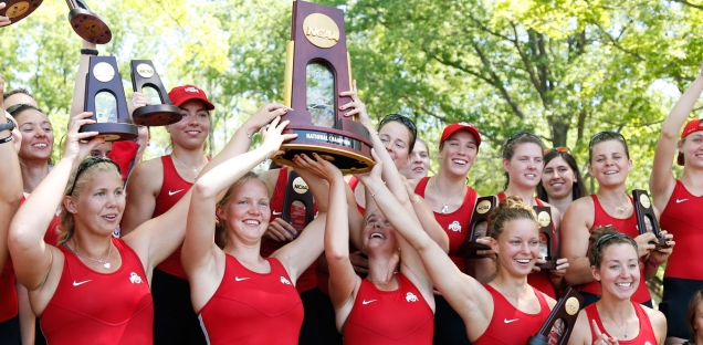
[[[432,344],[434,313],[420,291],[401,273],[399,288],[381,291],[368,280],[354,301],[342,334],[346,345]]]

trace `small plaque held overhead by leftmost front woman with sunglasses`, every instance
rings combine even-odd
[[[125,90],[117,71],[115,56],[91,56],[85,76],[84,111],[92,112],[96,123],[81,127],[81,132],[97,132],[106,142],[129,140],[137,137],[132,124]]]

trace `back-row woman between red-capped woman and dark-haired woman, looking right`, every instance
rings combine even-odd
[[[518,196],[528,206],[548,206],[552,208],[554,221],[553,238],[559,239],[559,224],[562,216],[559,210],[552,205],[535,198],[535,188],[542,181],[544,169],[544,145],[542,139],[528,132],[517,132],[507,138],[503,146],[503,169],[505,170],[505,191],[497,195],[499,200],[506,197]],[[559,243],[556,243],[557,247]],[[564,255],[559,255],[564,258]],[[557,269],[539,271],[535,269],[528,278],[528,283],[537,290],[556,299],[556,292],[564,289],[564,274],[566,273],[566,259],[557,260]]]

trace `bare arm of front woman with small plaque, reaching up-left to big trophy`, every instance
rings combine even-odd
[[[464,320],[484,322],[490,318],[493,300],[475,279],[463,274],[406,208],[398,202],[380,178],[382,163],[374,151],[376,167],[359,180],[373,191],[373,198],[384,216],[412,248],[415,248],[434,286]]]

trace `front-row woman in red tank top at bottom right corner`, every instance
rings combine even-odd
[[[640,284],[638,243],[610,226],[594,230],[590,241],[588,260],[601,297],[579,312],[569,344],[664,344],[664,314],[631,300]]]

